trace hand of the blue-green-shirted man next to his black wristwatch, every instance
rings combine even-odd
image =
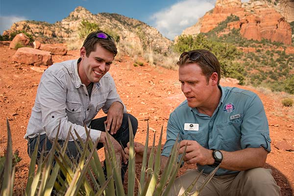
[[[183,140],[180,142],[180,154],[184,152],[186,145],[184,161],[187,164],[211,165],[214,163],[212,151],[202,147],[198,142],[193,140]]]

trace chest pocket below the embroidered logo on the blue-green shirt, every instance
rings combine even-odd
[[[218,136],[224,150],[232,151],[241,149],[242,117],[232,121],[217,124]]]

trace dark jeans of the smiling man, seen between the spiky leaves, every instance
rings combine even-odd
[[[138,128],[138,121],[135,117],[133,117],[132,115],[127,114],[127,113],[123,114],[123,122],[122,122],[121,127],[117,131],[117,133],[112,135],[112,137],[115,140],[117,140],[122,145],[123,148],[125,148],[126,144],[129,142],[129,124],[128,124],[128,120],[127,120],[128,117],[131,120],[133,134],[135,136],[137,128]],[[91,129],[96,129],[96,130],[100,130],[100,131],[105,132],[104,121],[106,121],[106,118],[107,117],[94,119],[90,124]],[[29,141],[27,143],[27,145],[28,145],[27,152],[28,152],[29,157],[31,157],[31,154],[34,151],[34,147],[36,145],[37,140],[38,140],[38,137],[31,138],[31,139],[29,139]],[[60,146],[63,146],[64,141],[59,140],[58,143]],[[40,143],[38,145],[38,156],[37,156],[38,161],[40,159],[40,155],[41,155],[41,151],[42,151],[43,146],[44,146],[45,155],[46,155],[52,147],[52,144],[49,141],[49,139],[47,138],[46,134],[40,135]],[[100,149],[101,147],[103,147],[103,144],[98,143],[97,149]],[[79,152],[78,152],[78,150],[75,146],[75,143],[73,141],[70,141],[68,143],[67,155],[69,157],[74,158],[74,159],[77,159],[79,157]],[[126,169],[127,169],[127,165],[122,163],[122,179],[124,178],[124,173],[126,172]],[[104,170],[104,173],[106,173],[106,170]]]

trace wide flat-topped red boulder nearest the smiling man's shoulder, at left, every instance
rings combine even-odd
[[[52,56],[49,51],[32,48],[20,48],[12,56],[12,61],[27,65],[51,65]]]

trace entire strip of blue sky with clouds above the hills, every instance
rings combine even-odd
[[[196,24],[216,0],[0,0],[0,33],[17,21],[55,23],[69,16],[77,6],[93,14],[118,13],[140,20],[173,39]]]

